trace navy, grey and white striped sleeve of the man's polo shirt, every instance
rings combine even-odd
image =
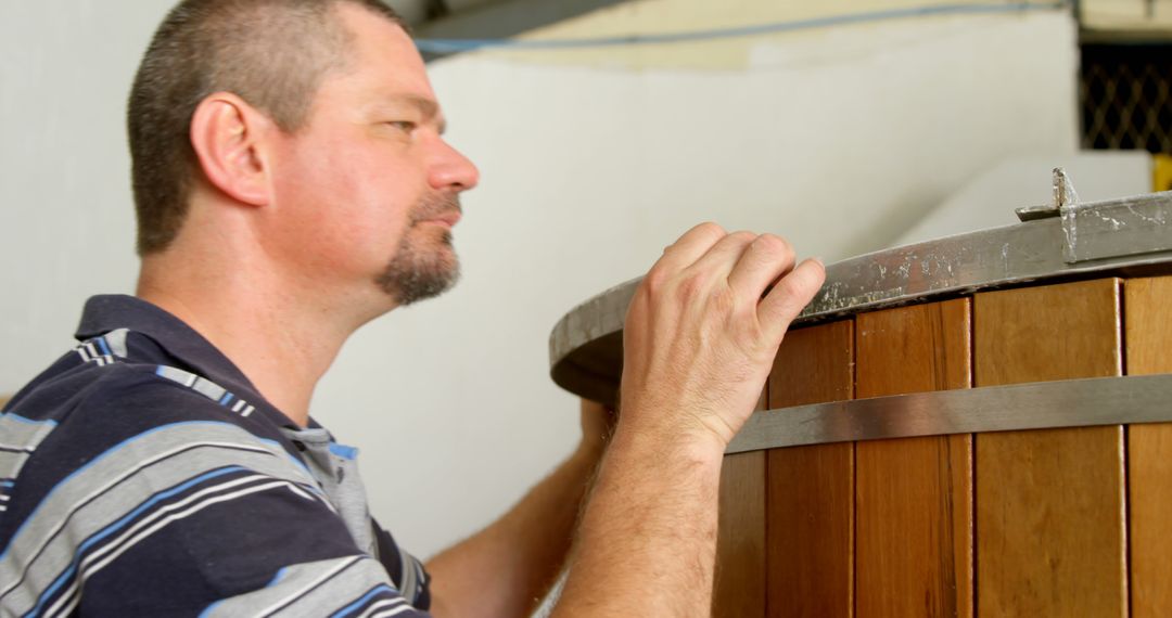
[[[159,416],[115,424],[120,438],[80,465],[50,442],[77,444],[87,434],[70,433],[96,431],[86,423],[38,449],[12,496],[22,523],[0,538],[0,613],[429,616],[280,444]]]

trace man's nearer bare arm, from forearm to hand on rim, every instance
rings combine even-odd
[[[824,277],[777,236],[711,224],[665,250],[627,313],[622,414],[556,616],[709,613],[724,448]]]

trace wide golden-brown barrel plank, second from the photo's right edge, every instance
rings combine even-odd
[[[976,386],[1117,376],[1119,282],[974,297]],[[1127,614],[1123,427],[979,434],[981,616]]]

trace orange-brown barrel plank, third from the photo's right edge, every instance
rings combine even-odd
[[[966,389],[969,301],[856,318],[856,396]],[[856,445],[858,616],[973,614],[972,435]]]

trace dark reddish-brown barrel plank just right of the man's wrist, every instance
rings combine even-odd
[[[769,407],[850,399],[854,323],[785,336],[769,378]],[[766,593],[770,617],[853,616],[854,446],[768,452]]]

